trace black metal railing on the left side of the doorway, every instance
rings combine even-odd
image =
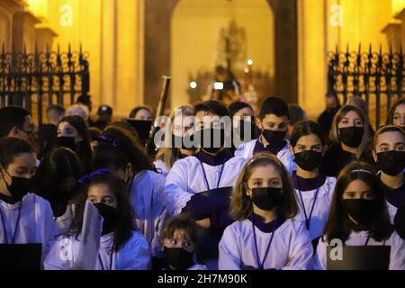
[[[75,103],[76,95],[88,94],[90,88],[88,53],[35,51],[14,48],[0,52],[0,106],[19,105],[36,114],[42,123],[43,108],[52,103]],[[67,98],[67,101],[66,101]],[[36,105],[36,110],[33,106]]]

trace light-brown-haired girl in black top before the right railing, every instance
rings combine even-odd
[[[326,175],[337,177],[339,172],[355,160],[369,160],[369,130],[363,112],[356,106],[346,105],[335,115],[330,130],[329,146],[323,158]],[[371,144],[370,144],[371,146]]]

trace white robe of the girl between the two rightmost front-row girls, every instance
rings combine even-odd
[[[333,190],[335,188],[336,178],[335,177],[327,177],[325,183],[320,186],[318,191],[317,201],[315,202],[315,207],[313,208],[311,220],[310,220],[310,238],[311,240],[318,238],[323,235],[323,229],[325,228],[325,224],[328,220],[329,216],[329,208],[330,202],[332,201]],[[302,201],[305,205],[305,210],[307,211],[307,217],[310,217],[311,207],[313,204],[313,200],[315,198],[315,193],[317,190],[311,191],[304,191],[302,193]],[[300,192],[298,189],[295,189],[295,195],[300,207],[300,211],[298,212],[297,216],[295,216],[296,220],[305,221],[305,214],[302,209],[302,202],[300,198]]]

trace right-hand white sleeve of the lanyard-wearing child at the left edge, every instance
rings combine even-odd
[[[42,260],[47,256],[50,247],[55,242],[58,226],[53,217],[53,211],[48,201],[36,196],[35,198],[35,238],[42,243]]]

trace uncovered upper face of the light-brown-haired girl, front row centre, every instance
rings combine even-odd
[[[249,180],[247,181],[247,195],[252,196],[253,188],[258,187],[275,187],[282,188],[283,180],[280,173],[277,171],[275,166],[258,166],[253,170],[252,175],[250,175]]]

